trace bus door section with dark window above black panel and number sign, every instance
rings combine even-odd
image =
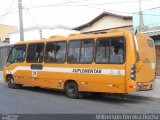
[[[30,67],[28,76],[28,84],[33,86],[39,86],[40,73],[43,69],[43,52],[44,43],[32,43],[28,45],[28,54],[26,62]]]

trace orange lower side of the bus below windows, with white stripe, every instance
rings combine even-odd
[[[14,71],[12,75],[15,79],[15,83],[17,84],[63,89],[66,80],[75,80],[79,86],[79,91],[113,93],[125,92],[125,74],[116,73],[118,70],[125,71],[125,64],[97,65],[93,63],[89,68],[110,70],[111,73],[109,74],[72,73],[73,69],[88,69],[87,64],[78,64],[76,65],[76,68],[75,64],[44,64],[43,70],[28,70],[30,65],[27,65],[27,63],[25,64],[26,65],[24,66],[24,63],[23,65],[21,63],[18,65],[17,63],[8,68],[10,69],[10,72]],[[71,71],[67,71],[68,68]],[[60,69],[61,72],[47,71],[47,69]],[[15,72],[15,70],[17,71]],[[37,76],[32,76],[32,71],[36,71]]]

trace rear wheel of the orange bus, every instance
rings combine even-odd
[[[66,95],[67,97],[72,98],[72,99],[77,99],[79,97],[77,83],[70,81],[66,84]]]

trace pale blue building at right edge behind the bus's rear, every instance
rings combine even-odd
[[[156,48],[156,75],[160,76],[160,7],[143,11],[143,28],[140,27],[139,13],[133,15],[134,29],[150,36]]]

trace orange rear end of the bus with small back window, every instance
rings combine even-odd
[[[151,38],[143,35],[137,34],[141,68],[137,72],[137,84],[142,84],[143,90],[147,88],[152,89],[152,82],[155,80],[155,46]],[[151,44],[151,46],[149,46]],[[146,52],[147,51],[147,52]],[[147,85],[147,83],[150,84]],[[144,85],[143,85],[144,84]]]

